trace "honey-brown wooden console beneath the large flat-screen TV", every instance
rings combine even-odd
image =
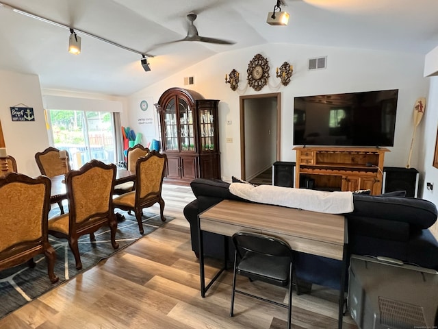
[[[380,147],[294,147],[296,188],[322,191],[370,189],[381,194],[383,160],[389,149]]]

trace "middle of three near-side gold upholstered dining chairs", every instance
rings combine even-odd
[[[77,269],[82,268],[79,236],[90,234],[90,240],[94,241],[96,230],[110,226],[112,247],[118,248],[117,221],[112,208],[115,179],[116,164],[105,164],[95,159],[66,174],[69,211],[49,219],[49,234],[68,240]]]

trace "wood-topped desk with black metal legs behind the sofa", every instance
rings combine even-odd
[[[228,254],[225,250],[224,267],[216,273],[206,287],[202,231],[224,236],[232,236],[240,231],[268,234],[285,240],[297,252],[342,260],[338,324],[339,328],[342,328],[348,243],[347,221],[344,216],[268,204],[223,200],[198,215],[198,228],[202,297],[205,297],[205,293],[220,273],[227,269]]]

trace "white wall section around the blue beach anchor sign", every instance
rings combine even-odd
[[[12,121],[10,107],[14,106],[34,108],[35,121]],[[18,171],[40,175],[35,154],[49,146],[49,139],[38,75],[0,71],[0,121],[6,149],[15,158]]]

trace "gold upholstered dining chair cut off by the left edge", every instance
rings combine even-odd
[[[0,178],[0,271],[26,261],[35,267],[33,257],[44,254],[49,279],[57,282],[55,249],[47,236],[50,188],[44,176],[8,173]]]

